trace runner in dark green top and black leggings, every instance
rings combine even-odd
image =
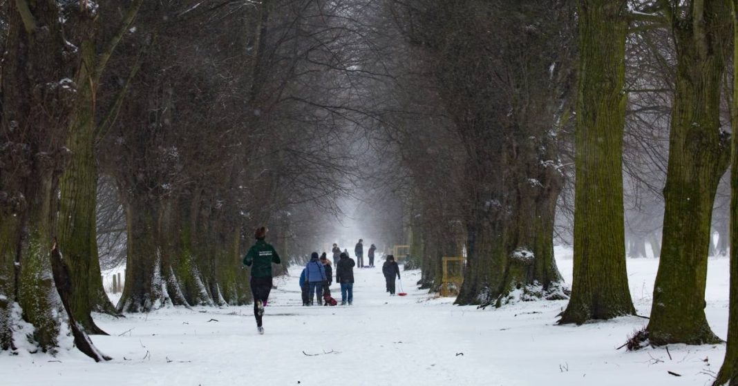
[[[256,329],[259,334],[264,333],[262,317],[264,305],[269,300],[269,292],[272,291],[272,263],[281,263],[275,247],[264,241],[266,238],[266,227],[259,227],[254,232],[256,243],[249,248],[244,256],[244,265],[251,267],[251,294],[254,297],[254,317],[256,318]],[[252,266],[253,265],[253,266]]]

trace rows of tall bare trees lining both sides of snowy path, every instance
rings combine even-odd
[[[105,334],[92,312],[249,303],[252,230],[284,270],[347,197],[384,244],[410,244],[422,288],[465,256],[457,304],[632,315],[625,257],[653,255],[632,346],[720,342],[704,306],[707,256],[738,242],[736,7],[2,1],[0,349],[18,323],[54,352],[67,319],[75,339]],[[555,238],[573,244],[570,290]],[[716,385],[738,383],[730,251]],[[125,261],[118,304],[101,261]]]

